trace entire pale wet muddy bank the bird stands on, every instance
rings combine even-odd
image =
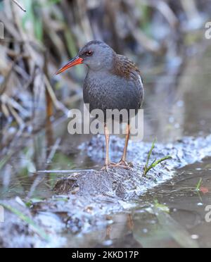
[[[122,139],[111,139],[113,161],[120,159],[123,146]],[[80,148],[86,150],[91,158],[101,161],[103,137],[94,137]],[[162,163],[143,177],[143,166],[150,148],[151,144],[131,142],[129,160],[134,163],[133,170],[115,168],[110,169],[109,173],[95,170],[72,173],[58,181],[54,189],[56,196],[45,201],[32,201],[30,208],[18,199],[4,201],[3,204],[25,214],[36,226],[5,208],[5,223],[0,224],[1,247],[65,247],[65,235],[105,227],[109,223],[106,215],[132,208],[134,201],[148,189],[169,180],[176,168],[211,156],[211,136],[198,139],[187,137],[174,144],[157,144],[151,161],[167,155],[172,156],[172,160]]]

